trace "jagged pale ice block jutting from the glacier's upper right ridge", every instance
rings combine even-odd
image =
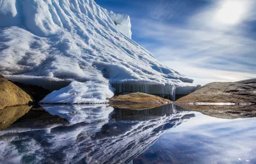
[[[115,25],[118,27],[118,29],[120,29],[120,31],[125,36],[127,36],[130,39],[132,38],[132,30],[131,30],[132,24],[131,24],[131,19],[129,15],[116,14],[116,13],[113,13],[113,11],[110,11],[109,17],[111,18],[111,20],[113,20]]]

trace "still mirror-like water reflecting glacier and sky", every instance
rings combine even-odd
[[[218,119],[175,105],[1,112],[0,163],[256,163],[256,118]]]

